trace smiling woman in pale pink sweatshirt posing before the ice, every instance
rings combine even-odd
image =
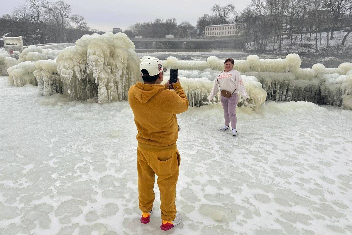
[[[246,92],[246,88],[243,85],[243,81],[240,73],[237,70],[233,69],[234,60],[228,58],[225,60],[225,69],[221,71],[215,79],[215,84],[210,92],[209,100],[211,101],[219,91],[226,90],[233,92],[230,98],[223,97],[220,95],[220,101],[222,107],[224,108],[225,116],[225,126],[220,128],[221,131],[230,130],[230,121],[232,127],[232,135],[238,135],[236,130],[237,116],[236,116],[236,107],[238,104],[238,93],[242,95],[246,101],[249,100],[249,95]]]

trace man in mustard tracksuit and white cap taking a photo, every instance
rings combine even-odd
[[[149,223],[153,212],[155,174],[161,200],[162,230],[181,223],[176,214],[176,184],[180,153],[176,148],[178,125],[176,114],[188,109],[188,100],[179,80],[172,85],[163,81],[166,69],[155,57],[141,61],[144,83],[137,82],[128,91],[128,102],[134,114],[138,134],[137,171],[140,222]],[[169,88],[175,91],[170,91]]]

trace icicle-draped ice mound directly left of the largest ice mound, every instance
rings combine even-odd
[[[35,62],[36,70],[33,75],[36,77],[41,95],[53,95],[64,92],[63,82],[57,72],[55,60],[39,60]]]

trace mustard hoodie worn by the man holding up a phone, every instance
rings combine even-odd
[[[138,82],[128,90],[128,102],[134,114],[139,143],[170,146],[178,137],[176,114],[187,111],[188,99],[180,83],[175,91],[166,85]]]

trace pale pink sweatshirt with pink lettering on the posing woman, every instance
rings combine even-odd
[[[226,90],[231,93],[233,91],[235,91],[234,93],[240,93],[244,99],[249,98],[246,88],[243,85],[241,75],[237,70],[232,69],[228,72],[221,71],[216,75],[216,78],[212,92],[210,92],[209,100],[212,100],[215,95],[218,94],[220,88],[221,90]]]

